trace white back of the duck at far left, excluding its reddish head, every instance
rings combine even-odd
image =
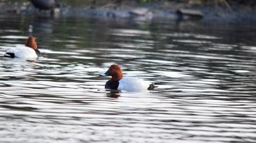
[[[7,54],[13,53],[15,57],[17,58],[37,58],[37,53],[35,53],[35,50],[26,46],[16,46],[13,48],[10,48],[6,52]]]

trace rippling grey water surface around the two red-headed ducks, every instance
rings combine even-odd
[[[0,142],[256,142],[254,25],[1,16]],[[155,91],[111,93],[119,64]]]

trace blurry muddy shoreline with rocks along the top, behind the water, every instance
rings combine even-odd
[[[165,1],[164,1],[165,2]],[[0,2],[0,15],[19,15],[37,13],[30,2],[15,4]],[[47,13],[47,12],[44,12]],[[55,14],[61,16],[84,16],[90,18],[131,19],[135,21],[202,21],[202,22],[256,22],[256,10],[250,5],[201,4],[186,2],[108,2],[86,6],[60,5]]]

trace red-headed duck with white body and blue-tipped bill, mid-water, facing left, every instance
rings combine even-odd
[[[99,76],[112,76],[105,83],[105,88],[110,90],[121,91],[142,91],[142,90],[154,90],[155,85],[143,79],[134,77],[123,77],[121,67],[117,64],[111,65],[105,73]]]

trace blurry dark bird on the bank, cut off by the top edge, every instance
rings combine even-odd
[[[39,10],[53,10],[55,7],[55,0],[30,0],[30,1]]]

